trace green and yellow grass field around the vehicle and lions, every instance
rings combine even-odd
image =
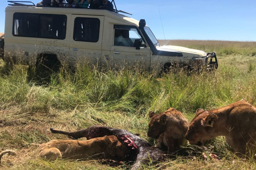
[[[256,106],[256,42],[159,42],[216,52],[219,68],[189,75],[175,70],[158,78],[137,69],[102,70],[83,64],[73,72],[61,68],[48,84],[42,85],[28,81],[27,66],[15,65],[9,70],[0,59],[0,151],[17,152],[14,156],[4,155],[0,169],[128,170],[131,165],[126,163],[111,167],[95,160],[49,162],[33,156],[35,144],[69,139],[51,133],[50,128],[74,131],[103,125],[140,133],[154,145],[154,140],[147,137],[150,110],[161,113],[173,107],[190,121],[198,108],[215,109],[237,101]],[[188,144],[186,156],[177,155],[141,169],[256,169],[256,161],[237,158],[224,137],[210,140],[205,146],[219,161],[209,157],[206,162],[202,150]]]

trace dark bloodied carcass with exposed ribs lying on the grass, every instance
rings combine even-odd
[[[91,126],[78,131],[67,132],[50,129],[53,133],[61,133],[71,136],[73,138],[86,137],[87,139],[93,139],[104,135],[115,135],[120,141],[122,141],[129,148],[129,155],[123,159],[124,161],[135,161],[131,170],[137,170],[141,164],[144,163],[158,163],[165,159],[167,154],[165,151],[151,146],[144,139],[139,136],[125,130],[117,128],[109,128],[104,126]]]

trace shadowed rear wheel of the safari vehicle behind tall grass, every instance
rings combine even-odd
[[[35,65],[28,67],[28,81],[35,81],[38,84],[48,84],[51,75],[58,73],[61,63],[54,54],[41,54],[38,56]]]

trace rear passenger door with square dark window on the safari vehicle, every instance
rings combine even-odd
[[[72,15],[69,60],[97,65],[101,61],[104,16]],[[71,26],[72,27],[72,26]]]

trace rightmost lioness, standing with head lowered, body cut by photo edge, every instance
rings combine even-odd
[[[241,101],[214,110],[197,109],[186,134],[189,143],[204,147],[206,140],[216,136],[225,136],[238,156],[253,156],[256,108]]]

